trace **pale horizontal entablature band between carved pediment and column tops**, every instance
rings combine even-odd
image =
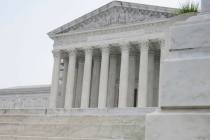
[[[54,37],[54,49],[77,48],[84,50],[89,47],[102,48],[119,42],[136,42],[145,39],[168,40],[170,27],[177,21],[185,20],[188,17],[179,16],[164,20],[56,35]]]

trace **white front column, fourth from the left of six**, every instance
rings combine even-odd
[[[102,48],[98,108],[106,107],[109,72],[109,48]]]

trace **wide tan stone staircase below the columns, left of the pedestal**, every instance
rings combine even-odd
[[[0,140],[144,140],[154,110],[0,109]]]

